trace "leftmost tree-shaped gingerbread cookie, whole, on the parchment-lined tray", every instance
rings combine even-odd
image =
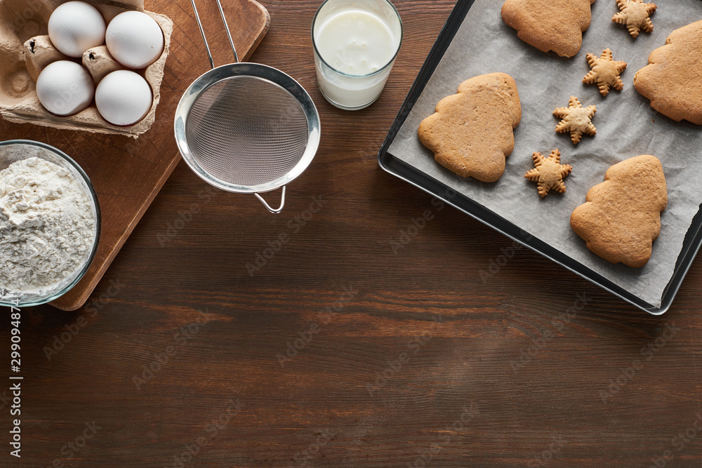
[[[491,73],[463,81],[458,94],[439,101],[418,135],[449,171],[495,182],[505,172],[505,157],[515,148],[513,129],[521,120],[517,83],[508,74]]]

